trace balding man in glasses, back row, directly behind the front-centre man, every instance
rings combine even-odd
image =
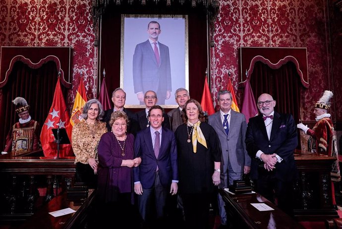
[[[144,102],[146,105],[146,108],[140,112],[137,113],[139,127],[141,130],[146,129],[150,126],[150,121],[148,120],[148,112],[151,109],[151,107],[155,106],[158,101],[157,95],[154,91],[147,91],[145,93]],[[170,120],[168,114],[163,114],[164,121],[162,126],[164,128],[170,129]]]

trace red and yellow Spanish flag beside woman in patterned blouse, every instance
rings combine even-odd
[[[72,108],[72,112],[70,116],[70,123],[72,126],[74,126],[75,124],[77,124],[78,122],[82,120],[80,115],[82,114],[83,106],[86,102],[87,102],[87,96],[85,93],[83,78],[81,77],[80,84],[76,91],[74,106]]]

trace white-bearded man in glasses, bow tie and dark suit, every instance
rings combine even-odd
[[[274,111],[276,101],[262,94],[257,105],[260,115],[249,119],[246,149],[252,159],[251,178],[256,190],[287,214],[293,214],[293,180],[297,175],[293,151],[297,147],[297,129],[290,114]]]

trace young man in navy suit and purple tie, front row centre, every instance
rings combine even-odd
[[[153,106],[149,111],[151,126],[139,131],[134,142],[134,155],[141,158],[139,167],[133,168],[134,192],[144,221],[151,216],[152,196],[156,216],[162,218],[168,192],[175,195],[178,190],[176,141],[173,132],[162,127],[163,119],[163,108]]]

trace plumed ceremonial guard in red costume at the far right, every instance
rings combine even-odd
[[[333,122],[330,119],[331,115],[328,114],[328,109],[330,108],[329,101],[331,97],[333,97],[333,93],[331,91],[325,91],[320,100],[314,104],[314,114],[316,115],[317,123],[312,129],[303,123],[297,124],[297,128],[302,129],[306,134],[310,135],[308,151],[336,158],[336,162],[332,166],[331,179],[332,181],[339,182],[341,180],[341,175],[336,145],[336,133]],[[332,191],[333,204],[336,205],[333,183]]]

